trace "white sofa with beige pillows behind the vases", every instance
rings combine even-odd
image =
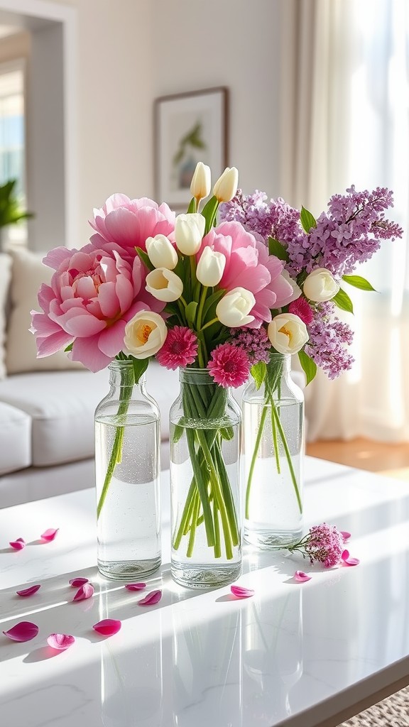
[[[94,411],[108,393],[108,370],[92,374],[63,352],[36,359],[30,310],[37,308],[36,294],[48,274],[39,255],[0,253],[0,507],[94,483]],[[302,374],[294,376],[302,385]],[[146,379],[161,411],[164,468],[178,371],[154,361]]]

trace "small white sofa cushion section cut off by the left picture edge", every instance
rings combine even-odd
[[[31,417],[0,401],[0,475],[31,465]]]

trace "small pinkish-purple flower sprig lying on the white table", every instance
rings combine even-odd
[[[295,543],[287,546],[290,553],[298,551],[303,558],[309,558],[312,563],[322,563],[325,568],[333,568],[341,563],[344,553],[344,538],[335,526],[322,523],[314,525],[304,537]]]

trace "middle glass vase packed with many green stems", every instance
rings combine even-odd
[[[241,412],[207,369],[180,369],[170,410],[172,577],[191,588],[234,581],[242,563]]]

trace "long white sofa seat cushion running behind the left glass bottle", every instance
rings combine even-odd
[[[93,457],[94,412],[108,393],[108,369],[39,371],[17,374],[0,382],[0,401],[7,401],[32,419],[32,464],[60,465]],[[148,393],[162,415],[162,439],[169,438],[169,409],[178,393],[178,372],[152,362]]]

